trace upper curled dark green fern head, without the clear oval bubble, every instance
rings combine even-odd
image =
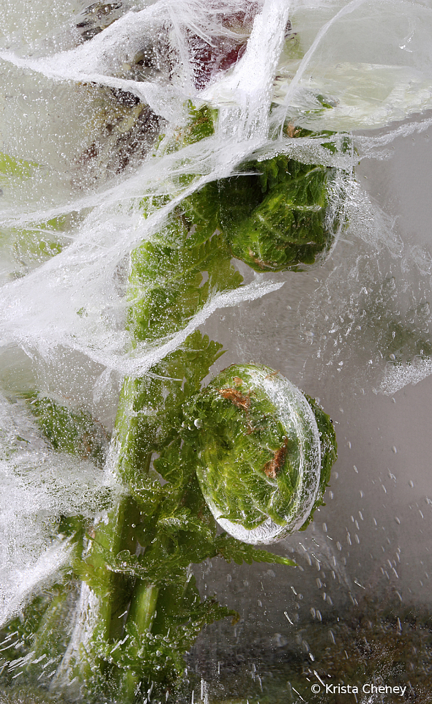
[[[334,170],[286,156],[249,163],[246,169],[258,174],[220,182],[220,221],[234,256],[256,271],[315,263],[334,237],[326,222]]]

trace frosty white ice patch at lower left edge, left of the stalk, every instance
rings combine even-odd
[[[0,396],[0,622],[15,615],[68,562],[56,535],[61,516],[93,517],[110,504],[113,475],[86,460],[53,453],[30,414]]]

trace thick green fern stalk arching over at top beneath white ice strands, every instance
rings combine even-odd
[[[210,123],[209,115],[205,111],[200,119],[207,125]],[[158,337],[170,336],[184,329],[193,315],[205,306],[205,303],[215,292],[236,289],[241,286],[242,278],[231,265],[232,252],[236,247],[234,239],[236,237],[239,239],[236,232],[239,215],[237,212],[234,213],[230,205],[233,189],[236,194],[234,203],[243,209],[246,207],[246,201],[250,201],[251,194],[253,194],[253,206],[246,208],[247,213],[246,210],[245,213],[241,213],[241,220],[250,218],[251,210],[258,208],[260,203],[267,203],[269,198],[273,199],[271,206],[273,210],[279,208],[279,211],[284,210],[284,212],[286,212],[286,203],[290,199],[298,200],[298,203],[291,203],[289,209],[290,213],[294,213],[294,211],[300,213],[300,215],[294,214],[292,216],[291,220],[294,225],[289,218],[288,224],[285,221],[277,223],[281,234],[284,234],[287,227],[289,230],[288,239],[278,241],[274,251],[279,252],[280,246],[285,248],[286,260],[281,259],[277,265],[272,264],[268,268],[296,266],[298,256],[302,256],[306,263],[312,263],[315,260],[315,253],[311,255],[309,253],[307,255],[300,254],[303,240],[309,249],[312,246],[310,241],[311,224],[307,220],[309,215],[303,218],[301,213],[303,213],[305,204],[307,207],[310,206],[315,213],[317,201],[319,201],[317,212],[324,213],[326,177],[330,171],[325,168],[297,167],[294,162],[288,164],[286,159],[279,161],[270,163],[268,167],[265,166],[263,169],[265,174],[262,177],[245,177],[240,180],[241,183],[236,180],[228,180],[227,183],[221,183],[219,186],[209,184],[202,191],[193,194],[184,201],[182,208],[172,213],[165,235],[159,233],[153,241],[144,242],[132,253],[132,266],[129,275],[128,325],[137,343],[151,342]],[[287,195],[289,184],[286,182],[288,166],[291,173],[290,196]],[[261,164],[260,168],[262,169],[262,167]],[[294,171],[296,172],[294,173]],[[317,184],[313,181],[314,179]],[[229,191],[227,187],[229,187]],[[263,194],[269,194],[269,196]],[[265,198],[267,200],[263,201]],[[279,203],[279,201],[281,202]],[[310,203],[312,204],[310,205]],[[237,207],[235,209],[239,210]],[[218,227],[222,229],[221,218],[229,230],[229,238],[224,237],[223,234],[213,235]],[[192,230],[193,225],[196,226],[194,230]],[[317,227],[317,237],[322,237],[322,241],[317,240],[314,252],[319,252],[326,246],[326,239],[322,235],[322,230],[319,229],[321,227],[319,222]],[[249,225],[246,230],[250,230]],[[253,231],[256,232],[256,227],[253,227]],[[190,232],[193,234],[190,235]],[[273,261],[276,253],[272,251],[267,230],[263,237],[263,241],[268,243],[272,252],[271,254],[267,253],[266,256],[267,258],[273,257]],[[293,249],[293,237],[299,238],[300,249]],[[241,246],[243,247],[243,240]],[[252,261],[249,254],[250,245],[246,243],[244,247],[248,251],[248,263],[261,270],[267,268],[267,265],[262,264],[260,253],[256,255],[259,262],[256,257]],[[240,256],[240,254],[241,248],[238,248],[238,251],[236,249],[236,255]],[[279,257],[279,254],[277,256]],[[193,348],[193,345],[191,347]],[[146,551],[142,558],[132,558],[135,551],[131,550],[130,557],[126,561],[123,560],[123,565],[127,566],[122,567],[120,564],[122,558],[119,556],[116,567],[119,570],[132,570],[132,573],[135,570],[134,574],[137,577],[125,624],[125,632],[128,636],[132,635],[115,650],[117,662],[120,667],[125,667],[127,670],[121,685],[122,699],[125,701],[133,700],[136,686],[142,679],[143,672],[150,679],[156,675],[155,671],[153,673],[149,671],[148,663],[158,662],[155,653],[158,653],[159,650],[156,649],[153,652],[153,650],[146,649],[143,638],[146,636],[146,631],[151,631],[158,599],[160,608],[158,608],[156,628],[158,633],[155,633],[155,638],[158,637],[158,634],[160,637],[166,636],[170,632],[172,624],[178,622],[179,617],[176,615],[176,610],[179,610],[178,602],[182,598],[186,598],[188,610],[197,608],[197,596],[193,590],[188,592],[189,596],[187,597],[182,597],[180,593],[183,593],[185,588],[181,585],[186,584],[185,570],[188,563],[199,562],[205,557],[217,554],[215,544],[209,543],[207,546],[199,534],[191,533],[185,542],[183,536],[186,533],[186,525],[180,525],[180,531],[172,533],[170,538],[158,534],[160,531],[158,520],[160,521],[160,517],[166,513],[176,515],[180,510],[186,509],[191,512],[192,516],[199,516],[201,511],[205,512],[205,508],[203,508],[205,503],[196,479],[193,490],[186,490],[190,468],[182,476],[182,467],[184,463],[187,465],[187,460],[184,459],[184,448],[182,450],[181,444],[179,444],[179,435],[182,431],[182,407],[192,394],[199,391],[201,379],[208,372],[208,368],[203,368],[201,375],[198,372],[195,377],[192,374],[192,378],[188,379],[188,374],[191,374],[190,369],[193,369],[193,363],[199,366],[200,355],[202,356],[203,353],[198,350],[195,360],[191,360],[188,341],[186,341],[183,348],[179,348],[176,353],[172,353],[158,365],[155,365],[149,377],[125,379],[120,396],[115,426],[119,453],[117,472],[145,513],[143,523],[144,543],[146,543]],[[155,484],[152,488],[148,475],[152,453],[160,453],[161,458],[156,463],[157,469],[163,474],[164,479],[174,483],[169,491],[161,491],[160,485],[156,486]],[[193,472],[194,460],[195,458],[192,458],[188,465],[188,467],[193,467]],[[193,474],[193,476],[195,475]],[[204,515],[210,529],[214,523],[208,512]],[[165,519],[162,518],[162,520]],[[203,519],[197,520],[199,525]],[[193,528],[193,530],[196,529],[196,527]],[[208,540],[208,536],[206,536],[206,540]],[[204,546],[201,551],[198,548],[200,542]],[[176,555],[182,555],[182,551],[184,557],[178,558],[179,565],[181,564],[182,567],[175,567],[177,572],[172,577],[172,586],[167,586],[167,574],[162,578],[162,581],[160,581],[161,577],[154,579],[155,575],[163,574],[163,563],[168,564],[170,560],[173,560],[173,565],[175,565]],[[146,570],[148,570],[148,578],[143,574]],[[176,584],[177,586],[175,586]],[[178,591],[179,589],[180,591]],[[176,642],[180,641],[172,641],[172,647],[177,647],[180,653],[185,646],[180,646],[180,644],[175,646]],[[186,641],[184,642],[186,643]],[[155,648],[161,647],[155,646]],[[177,655],[171,656],[174,657],[175,667],[179,667]],[[140,657],[144,660],[141,670],[139,668]],[[124,663],[129,663],[129,665]],[[128,667],[130,667],[129,670]],[[164,667],[167,666],[155,665],[156,670],[163,672],[165,672]]]

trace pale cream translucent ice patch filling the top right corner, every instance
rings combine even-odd
[[[288,45],[276,99],[293,120],[307,111],[311,129],[376,128],[431,107],[428,6],[415,4],[407,17],[394,0],[299,4],[291,18],[301,49]],[[320,109],[317,94],[332,107]]]

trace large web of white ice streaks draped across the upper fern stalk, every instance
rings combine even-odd
[[[222,4],[221,7],[228,15],[232,11],[229,5]],[[183,22],[189,21],[191,23],[193,16],[194,29],[198,31],[201,27],[202,33],[205,29],[204,20],[207,18],[207,31],[215,34],[215,26],[213,26],[215,20],[212,24],[211,13],[209,25],[208,15],[202,11],[195,13],[196,6],[194,4],[185,2],[182,4],[182,8],[184,8]],[[236,11],[240,10],[241,8],[236,8]],[[272,12],[272,4],[269,4],[265,12]],[[146,83],[134,82],[134,86],[131,86],[130,82],[125,84],[123,79],[117,78],[113,78],[114,83],[110,82],[108,80],[110,73],[115,73],[115,66],[111,65],[110,61],[112,62],[118,56],[122,56],[122,61],[126,61],[129,54],[132,56],[142,44],[143,34],[153,37],[155,34],[154,23],[157,22],[158,26],[163,27],[165,20],[170,24],[169,18],[171,16],[170,4],[163,4],[162,13],[160,4],[155,4],[140,13],[125,15],[108,27],[105,32],[94,37],[91,42],[82,44],[72,51],[37,59],[21,58],[11,54],[4,54],[3,58],[13,61],[15,65],[38,70],[48,77],[63,80],[73,77],[75,81],[84,79],[97,81],[127,90],[133,88],[136,93],[136,90],[140,91],[143,86],[146,87]],[[260,16],[258,15],[258,17]],[[217,10],[215,10],[215,18],[217,19]],[[204,24],[199,25],[200,21]],[[255,21],[258,22],[258,19]],[[260,52],[267,52],[266,36],[272,37],[274,34],[272,25],[269,23],[265,29],[267,34],[262,35],[262,32],[259,34],[260,22],[262,20],[259,20],[257,30],[255,30],[256,39],[254,41],[257,44],[253,50],[255,62],[263,61],[267,57],[266,53],[262,56]],[[277,54],[278,42],[279,44],[281,42],[281,32],[286,25],[285,10],[278,18],[277,25],[279,34],[275,34],[276,44],[271,52],[272,61]],[[170,30],[174,32],[179,42],[182,39],[182,27],[182,23],[177,18],[177,23]],[[216,25],[216,30],[219,32],[223,29],[223,26]],[[176,34],[176,32],[180,32],[180,34]],[[130,44],[129,49],[125,49],[125,42],[127,46]],[[245,58],[248,58],[247,52]],[[93,71],[95,66],[96,68],[97,66],[103,67],[105,73],[103,75],[85,73],[84,75],[84,70],[87,70],[85,67],[89,65],[93,67]],[[267,65],[267,61],[263,61],[262,65]],[[261,75],[258,87],[251,94],[253,100],[250,103],[250,114],[253,115],[255,122],[256,106],[260,105],[260,109],[264,111],[265,115],[268,112],[265,105],[269,101],[269,96],[267,96],[266,103],[262,102],[263,91],[267,90],[268,92],[268,82],[266,85],[264,75]],[[120,81],[118,86],[116,81]],[[184,101],[191,94],[187,87],[187,81],[186,83],[182,82],[182,77],[178,76],[174,77],[172,81],[174,84],[180,82],[182,85],[182,101]],[[152,90],[160,90],[166,96],[167,87],[165,85],[159,88],[157,83],[151,83],[150,86]],[[144,94],[140,94],[140,96],[146,99]],[[167,120],[172,120],[174,125],[182,124],[184,121],[184,110],[180,103],[175,108],[174,114],[170,115],[164,113],[156,103],[151,103],[151,107]],[[182,150],[180,155],[167,154],[162,159],[149,158],[125,180],[104,189],[102,192],[73,199],[68,202],[67,206],[61,208],[36,210],[32,213],[20,213],[18,216],[14,213],[12,217],[9,216],[4,221],[9,227],[12,224],[13,227],[23,227],[27,224],[34,227],[34,222],[37,220],[46,221],[70,213],[72,210],[82,213],[91,208],[89,215],[75,230],[74,239],[68,248],[63,249],[61,254],[46,261],[24,279],[4,287],[1,308],[4,329],[8,330],[11,339],[25,346],[28,353],[37,353],[42,358],[49,359],[54,349],[64,346],[84,354],[108,370],[114,370],[120,377],[125,374],[136,375],[143,373],[173,346],[178,346],[186,334],[193,332],[193,329],[196,329],[217,308],[233,305],[236,301],[245,298],[253,300],[259,290],[261,291],[260,295],[263,295],[267,290],[272,290],[272,287],[280,285],[270,284],[268,280],[261,283],[256,280],[249,287],[244,287],[235,294],[216,296],[191,321],[184,333],[178,334],[172,341],[160,341],[159,351],[154,349],[136,350],[133,359],[128,358],[125,354],[129,338],[125,334],[123,326],[124,287],[118,286],[116,273],[125,268],[130,251],[143,239],[152,237],[182,197],[205,182],[228,175],[236,163],[243,161],[251,150],[268,141],[265,136],[265,121],[259,128],[258,123],[255,127],[253,125],[247,127],[249,118],[243,115],[241,118],[245,121],[243,133],[229,136],[224,127],[227,120],[228,116],[225,115],[220,132],[217,132],[214,137],[204,140],[205,143],[192,145]],[[236,124],[240,124],[237,116]],[[251,129],[252,132],[250,132]],[[179,189],[178,186],[174,186],[172,176],[194,172],[198,174],[196,182],[177,194],[174,189],[177,191]],[[202,174],[201,178],[200,174]],[[139,199],[146,192],[157,195],[167,191],[174,191],[174,197],[169,206],[161,208],[158,213],[144,221],[139,208],[137,208]],[[35,290],[39,291],[38,296],[34,296]],[[53,298],[56,299],[56,310],[50,306],[50,301]],[[80,310],[84,310],[85,315],[77,315],[77,311]],[[42,330],[44,333],[41,335]]]

